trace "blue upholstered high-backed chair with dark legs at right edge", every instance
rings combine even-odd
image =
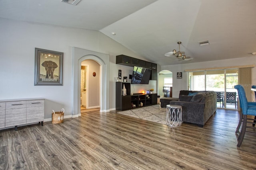
[[[244,91],[244,87],[241,85],[236,85],[234,86],[234,88],[238,91],[238,97],[239,97],[239,101],[240,101],[240,107],[242,109],[241,114],[243,115],[242,119],[243,119],[243,125],[242,125],[242,129],[241,132],[238,136],[238,144],[236,145],[237,147],[240,147],[242,144],[242,141],[244,139],[244,134],[246,132],[246,128],[253,128],[256,129],[253,126],[247,126],[247,123],[252,123],[250,121],[250,119],[247,119],[247,115],[253,115],[254,117],[256,116],[256,106],[250,106],[248,105],[248,101],[245,95],[245,91]],[[254,102],[256,103],[256,102]],[[255,119],[252,119],[255,120]]]

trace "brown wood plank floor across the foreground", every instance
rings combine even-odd
[[[169,127],[116,111],[92,111],[60,124],[5,129],[0,169],[256,169],[256,136],[246,133],[236,147],[238,119],[237,111],[218,109],[203,128]]]

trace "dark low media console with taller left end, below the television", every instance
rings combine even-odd
[[[126,96],[122,95],[123,86]],[[157,94],[135,93],[131,95],[130,82],[116,82],[116,110],[128,110],[157,104]]]

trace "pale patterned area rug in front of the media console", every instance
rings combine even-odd
[[[136,117],[139,119],[161,123],[166,125],[166,108],[161,108],[160,105],[140,107],[126,111],[120,111],[118,114]]]

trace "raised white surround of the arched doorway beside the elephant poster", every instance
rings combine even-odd
[[[72,117],[81,115],[78,94],[81,89],[81,64],[84,60],[94,60],[100,64],[100,112],[109,111],[109,100],[107,100],[109,99],[109,55],[73,47]]]

